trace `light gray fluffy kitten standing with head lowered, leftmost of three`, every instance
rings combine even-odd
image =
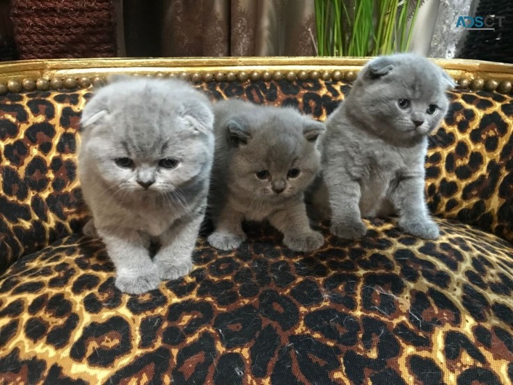
[[[214,114],[177,80],[116,79],[86,104],[79,178],[116,287],[140,294],[189,273],[207,207]],[[159,250],[152,259],[150,242]]]

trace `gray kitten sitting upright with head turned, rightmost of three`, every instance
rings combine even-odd
[[[416,54],[381,56],[358,74],[326,120],[322,180],[315,210],[331,217],[331,233],[365,235],[361,217],[398,215],[411,235],[436,239],[424,198],[427,138],[448,110],[454,81]]]

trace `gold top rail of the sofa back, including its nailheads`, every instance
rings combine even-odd
[[[345,79],[352,81],[369,58],[96,58],[13,61],[0,64],[0,94],[38,89],[88,88],[112,74],[176,76],[191,81],[257,81],[259,79]],[[510,93],[513,65],[434,59],[461,88]]]

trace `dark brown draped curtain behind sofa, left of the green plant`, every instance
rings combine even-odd
[[[312,56],[314,0],[125,0],[127,56]]]

